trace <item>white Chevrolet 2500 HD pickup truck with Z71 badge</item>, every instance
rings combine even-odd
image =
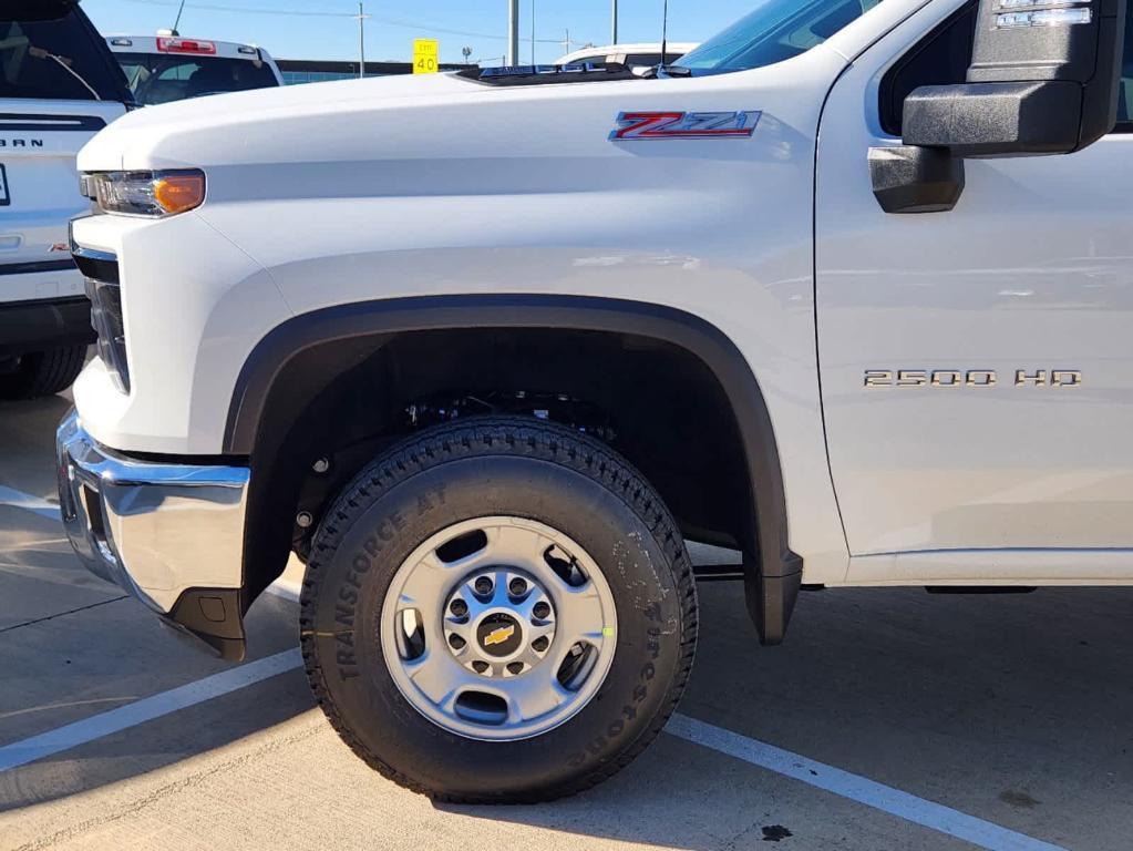
[[[651,78],[127,116],[79,158],[122,333],[59,431],[76,550],[229,658],[298,555],[346,741],[489,802],[664,726],[685,539],[768,645],[804,587],[1133,584],[1124,22],[767,0]]]

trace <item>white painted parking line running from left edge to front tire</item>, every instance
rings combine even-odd
[[[34,763],[36,759],[77,748],[79,744],[86,744],[105,735],[128,730],[131,726],[160,718],[178,709],[195,706],[214,697],[239,691],[270,676],[299,667],[301,664],[303,657],[299,655],[298,648],[284,650],[274,656],[266,656],[246,665],[205,676],[203,680],[195,680],[170,691],[143,698],[128,706],[110,709],[83,721],[76,721],[74,724],[5,744],[0,747],[0,772],[7,772]]]

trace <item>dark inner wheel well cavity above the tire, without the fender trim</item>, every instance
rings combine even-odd
[[[296,366],[298,374],[310,368]],[[327,377],[313,394],[307,382],[281,382],[252,453],[249,509],[271,531],[249,552],[273,552],[276,573],[283,545],[301,550],[329,502],[374,456],[420,428],[477,414],[587,431],[641,470],[684,535],[739,547],[750,534],[755,507],[727,398],[702,361],[671,343],[571,330],[418,331]],[[300,512],[312,518],[307,528],[297,524]]]

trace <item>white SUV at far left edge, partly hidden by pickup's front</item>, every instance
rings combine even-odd
[[[0,397],[65,390],[94,341],[67,222],[75,156],[126,112],[121,69],[74,0],[0,5]]]

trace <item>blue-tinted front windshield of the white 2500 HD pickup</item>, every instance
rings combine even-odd
[[[674,65],[693,75],[763,68],[806,53],[880,0],[759,0],[740,18]]]

